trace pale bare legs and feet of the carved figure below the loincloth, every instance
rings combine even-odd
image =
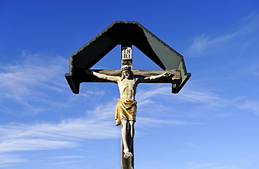
[[[134,121],[127,119],[120,119],[121,128],[121,138],[123,139],[123,152],[124,158],[128,159],[132,156],[132,142],[134,138]]]

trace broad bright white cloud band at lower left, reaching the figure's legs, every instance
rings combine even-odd
[[[24,151],[75,149],[85,140],[120,138],[120,127],[115,126],[113,104],[98,105],[87,110],[85,117],[66,118],[60,122],[10,123],[0,125],[0,152],[6,159],[0,166],[27,161]],[[87,150],[87,147],[84,146]],[[16,154],[15,156],[12,154]],[[73,163],[78,156],[59,156]],[[61,162],[63,163],[63,161]],[[57,163],[55,163],[57,164]],[[60,164],[60,163],[59,163]]]

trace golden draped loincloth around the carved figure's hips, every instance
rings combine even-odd
[[[120,119],[134,120],[136,122],[137,101],[119,98],[116,105],[116,126],[120,125]]]

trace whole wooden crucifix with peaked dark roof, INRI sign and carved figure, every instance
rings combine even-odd
[[[90,69],[118,44],[121,45],[120,69]],[[132,44],[158,64],[163,71],[133,69]],[[96,47],[101,47],[101,50],[96,50]],[[116,125],[121,125],[121,168],[134,168],[133,143],[137,85],[141,82],[172,83],[172,93],[178,93],[190,78],[190,73],[186,71],[181,54],[163,43],[139,22],[116,21],[71,55],[69,73],[66,73],[65,77],[75,94],[79,93],[81,82],[118,84],[120,98],[116,105],[115,119]]]

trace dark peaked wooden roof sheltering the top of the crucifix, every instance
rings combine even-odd
[[[146,54],[162,70],[178,69],[181,71],[182,82],[174,93],[178,93],[190,78],[187,73],[183,56],[172,47],[160,40],[137,21],[115,21],[106,27],[91,41],[71,54],[69,73],[65,74],[73,93],[79,93],[80,74],[90,69],[116,45],[123,44],[123,39],[130,38],[132,45]]]

